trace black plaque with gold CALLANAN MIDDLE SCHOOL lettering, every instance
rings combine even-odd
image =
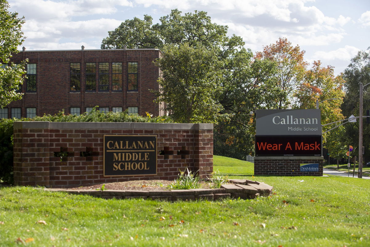
[[[104,135],[104,176],[157,175],[156,135]]]

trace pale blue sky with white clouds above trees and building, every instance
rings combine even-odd
[[[207,11],[229,26],[254,52],[286,37],[306,51],[305,60],[342,72],[351,57],[370,46],[370,0],[9,0],[24,16],[27,50],[100,49],[121,22],[144,14],[159,17],[179,9]],[[19,47],[21,50],[21,47]]]

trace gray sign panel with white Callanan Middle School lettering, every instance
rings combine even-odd
[[[321,135],[320,109],[256,110],[256,135]]]

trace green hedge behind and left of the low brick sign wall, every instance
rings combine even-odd
[[[55,115],[36,116],[35,118],[21,119],[0,119],[0,180],[13,183],[13,123],[14,121],[48,121],[48,122],[147,122],[147,123],[173,123],[168,116],[158,116],[152,118],[147,112],[147,116],[137,114],[128,115],[124,112],[107,112],[97,111],[95,106],[91,112],[77,115],[65,115],[60,111]]]

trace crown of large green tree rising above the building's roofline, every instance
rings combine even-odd
[[[201,44],[205,49],[218,48],[220,57],[227,57],[235,48],[244,45],[239,36],[226,36],[227,26],[211,22],[205,11],[185,13],[178,9],[171,10],[167,16],[160,18],[160,23],[152,24],[152,17],[145,15],[144,20],[135,17],[125,20],[109,36],[102,40],[102,49],[158,48],[165,45],[182,45],[191,47]]]

